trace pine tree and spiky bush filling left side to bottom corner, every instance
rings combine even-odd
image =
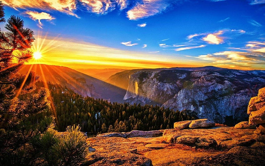
[[[5,22],[1,1],[0,22]],[[33,31],[16,16],[7,19],[5,29],[0,30],[0,165],[79,165],[87,149],[79,126],[60,136],[53,117],[28,119],[50,108],[47,89],[33,93],[39,77],[18,73],[32,57]]]

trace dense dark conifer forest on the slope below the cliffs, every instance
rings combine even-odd
[[[153,105],[108,102],[103,99],[82,97],[72,90],[58,84],[48,83],[52,102],[55,105],[56,129],[64,131],[67,126],[80,125],[83,132],[96,134],[105,132],[128,132],[131,130],[159,130],[173,128],[174,122],[192,120],[193,117]],[[37,87],[43,87],[38,82]],[[29,117],[38,122],[52,111]]]

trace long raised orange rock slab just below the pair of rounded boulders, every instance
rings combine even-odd
[[[250,146],[257,136],[254,129],[235,129],[220,127],[211,129],[166,129],[163,133],[167,143],[181,143],[196,147],[233,148],[235,146]]]

